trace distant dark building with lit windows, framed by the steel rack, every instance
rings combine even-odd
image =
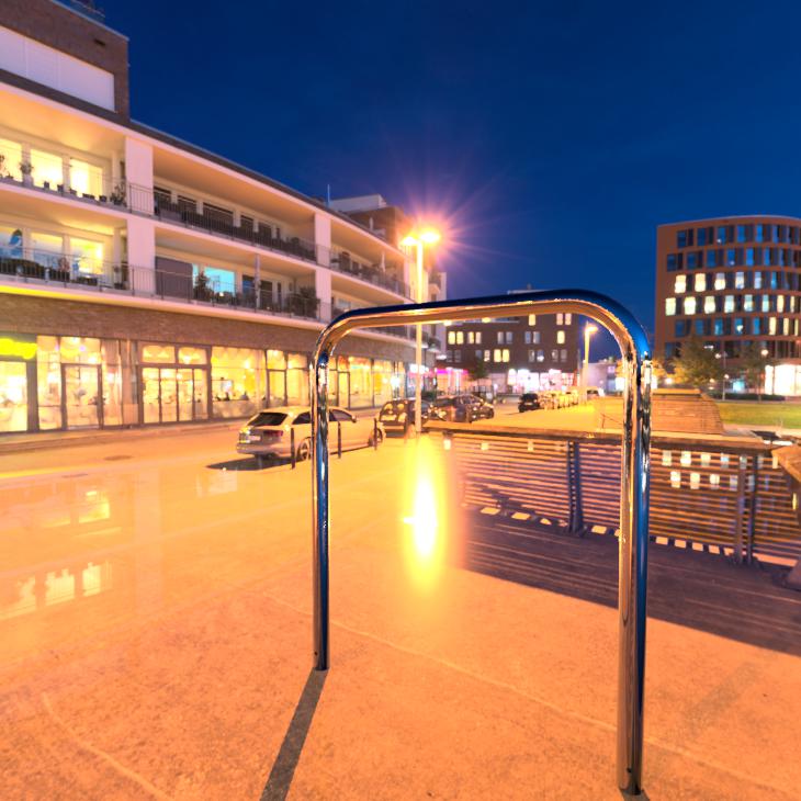
[[[577,383],[577,315],[469,320],[453,323],[447,331],[447,364],[464,371],[466,386],[489,384],[494,393],[539,392]]]

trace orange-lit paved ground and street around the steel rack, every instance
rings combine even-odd
[[[332,459],[323,686],[309,464],[256,470],[234,443],[165,432],[0,458],[4,796],[619,797],[613,542],[462,520],[427,439]],[[663,599],[687,556],[655,560]],[[779,618],[801,602],[743,586],[796,635]],[[665,606],[648,623],[648,797],[797,798],[801,657]]]

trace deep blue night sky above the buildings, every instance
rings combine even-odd
[[[651,330],[657,224],[801,213],[798,3],[100,4],[136,120],[447,219],[451,297],[582,286]]]

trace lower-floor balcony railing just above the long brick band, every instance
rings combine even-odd
[[[271,315],[298,317],[318,323],[330,323],[343,309],[323,303],[313,290],[289,294],[245,290],[227,291],[206,285],[187,273],[131,267],[67,257],[44,250],[20,248],[0,250],[0,280],[21,283],[76,285],[98,292],[119,292],[139,297],[157,297],[177,303],[205,304],[259,312]],[[381,329],[393,336],[409,337],[405,326]]]

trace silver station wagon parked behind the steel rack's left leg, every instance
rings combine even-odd
[[[384,427],[371,417],[356,417],[347,409],[332,406],[328,409],[328,447],[338,443],[338,430],[342,431],[342,450],[372,445],[377,436],[384,439]],[[312,455],[312,411],[308,406],[278,406],[263,409],[239,429],[237,451],[249,453],[259,465],[268,456],[287,459],[292,455],[292,432],[295,432],[295,458],[300,461]]]

